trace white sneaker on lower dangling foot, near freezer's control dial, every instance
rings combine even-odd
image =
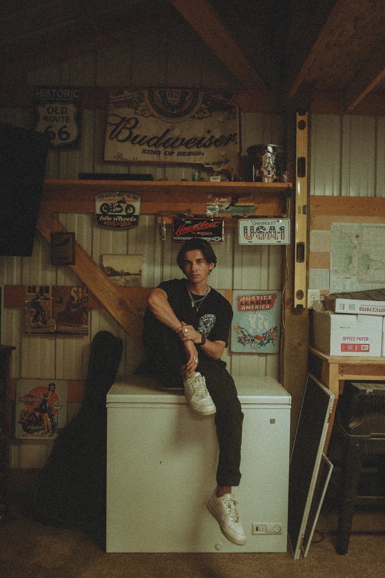
[[[232,494],[224,494],[219,498],[217,489],[215,488],[212,497],[208,501],[208,510],[219,523],[223,535],[230,542],[243,546],[243,544],[246,544],[246,534],[236,511],[237,502]]]

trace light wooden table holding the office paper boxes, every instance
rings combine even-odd
[[[339,394],[342,394],[345,380],[383,381],[385,380],[385,357],[361,357],[359,355],[327,355],[309,347],[309,371],[334,394],[333,411],[325,441],[327,453],[334,423],[335,408]]]

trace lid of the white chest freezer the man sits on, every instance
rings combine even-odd
[[[290,406],[290,395],[273,377],[233,375],[233,378],[242,405]],[[182,388],[160,388],[157,379],[148,375],[130,375],[115,381],[106,399],[107,406],[111,403],[187,403]]]

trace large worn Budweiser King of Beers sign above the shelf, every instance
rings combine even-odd
[[[188,88],[121,89],[110,95],[105,161],[238,166],[238,108]]]

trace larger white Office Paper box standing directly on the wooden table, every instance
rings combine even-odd
[[[381,357],[383,317],[312,311],[310,343],[327,355]]]

